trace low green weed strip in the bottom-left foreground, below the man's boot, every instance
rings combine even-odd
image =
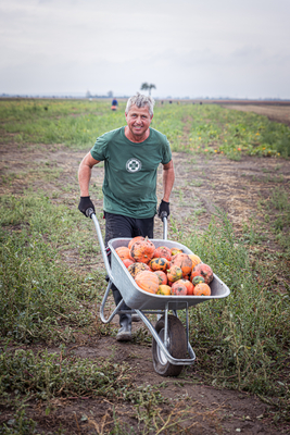
[[[34,355],[31,350],[22,349],[1,352],[0,369],[2,394],[11,389],[29,390],[30,395],[42,400],[76,395],[125,398],[135,390],[129,387],[130,374],[125,365],[65,358],[63,352],[45,350]]]

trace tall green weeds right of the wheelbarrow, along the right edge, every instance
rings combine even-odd
[[[279,290],[275,272],[278,263],[283,270],[281,258],[253,261],[248,244],[235,237],[223,212],[202,235],[184,235],[181,243],[211,264],[231,290],[226,300],[201,303],[190,311],[194,325],[190,343],[199,356],[198,370],[214,386],[267,397],[281,411],[278,418],[288,420],[290,276],[286,270],[286,290]]]

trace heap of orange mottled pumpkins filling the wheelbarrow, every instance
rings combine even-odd
[[[137,285],[154,295],[210,296],[213,281],[211,266],[192,253],[179,248],[156,248],[148,237],[134,237],[128,247],[116,248],[116,253]]]

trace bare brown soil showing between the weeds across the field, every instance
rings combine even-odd
[[[229,108],[229,105],[227,105]],[[290,120],[290,108],[274,107],[253,107],[242,105],[234,107],[238,110],[253,110],[266,114],[269,119],[288,123]],[[264,111],[264,112],[263,112]],[[55,189],[54,182],[43,182],[42,179],[29,183],[29,167],[42,165],[47,161],[55,167],[62,170],[62,185],[70,186],[67,192],[61,192],[55,202],[66,203],[72,208],[77,208],[78,186],[76,183],[76,173],[78,164],[85,152],[67,153],[62,147],[37,147],[29,149],[11,141],[9,146],[2,146],[1,149],[1,170],[7,176],[12,172],[17,172],[20,176],[13,179],[9,185],[0,187],[1,194],[21,195],[29,186],[34,188]],[[275,181],[280,177],[279,186],[290,190],[290,164],[289,161],[274,158],[253,158],[242,157],[240,161],[230,161],[222,156],[205,158],[203,156],[190,156],[187,153],[174,153],[176,169],[176,183],[171,200],[172,215],[180,224],[187,222],[187,226],[193,222],[194,211],[203,211],[198,215],[198,223],[201,228],[206,228],[212,214],[216,212],[216,207],[223,209],[234,224],[237,234],[242,232],[245,223],[251,219],[263,220],[263,211],[259,208],[261,199],[267,199],[269,189],[275,186]],[[93,175],[92,184],[101,186],[102,169],[98,169]],[[26,174],[21,176],[21,174]],[[162,197],[162,174],[159,174],[157,195]],[[101,209],[102,201],[93,196],[96,208]],[[187,220],[187,221],[186,221]],[[155,223],[155,237],[162,237],[162,227],[160,221]],[[92,232],[94,229],[92,228]],[[169,227],[168,238],[172,235]],[[265,249],[280,249],[270,233],[267,234]],[[66,257],[65,257],[66,256]],[[68,266],[77,264],[77,252],[65,253]],[[92,268],[103,268],[102,260]],[[83,266],[89,269],[91,266]],[[92,308],[94,309],[94,308]],[[97,323],[99,320],[97,319]],[[194,419],[191,423],[185,422],[189,434],[267,434],[276,435],[290,433],[287,425],[276,426],[270,418],[272,408],[257,397],[237,390],[213,388],[205,385],[202,376],[199,374],[199,356],[197,362],[185,370],[178,378],[163,378],[157,375],[152,365],[151,348],[140,345],[138,339],[133,343],[117,343],[114,338],[117,331],[117,319],[109,330],[108,336],[76,336],[76,341],[68,347],[75,356],[79,358],[91,358],[94,360],[111,359],[118,363],[127,362],[133,368],[136,385],[148,384],[159,385],[163,381],[166,386],[160,387],[162,395],[169,400],[178,399],[179,406],[192,407]],[[140,333],[139,330],[146,327],[140,323],[133,324],[134,337]],[[139,331],[139,333],[138,333]],[[42,346],[42,345],[41,345]],[[50,348],[50,351],[59,349]],[[67,434],[102,434],[112,430],[113,411],[117,419],[127,422],[129,426],[137,427],[137,421],[134,417],[134,408],[124,405],[122,401],[109,401],[103,398],[71,398],[54,399],[51,402],[51,411],[46,413],[46,407],[39,403],[30,402],[27,413],[38,422],[38,431],[43,434],[58,433],[62,425]],[[169,407],[164,401],[160,407],[163,415],[168,414]],[[85,418],[84,418],[85,415]],[[9,420],[9,410],[1,409],[0,422]],[[129,432],[128,432],[129,433]],[[133,432],[138,433],[138,432]],[[163,432],[165,433],[165,432]]]

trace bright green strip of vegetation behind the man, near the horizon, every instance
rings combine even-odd
[[[114,113],[108,101],[0,101],[3,141],[64,144],[88,148],[103,133],[124,125],[125,102]],[[189,128],[185,130],[185,125]],[[290,157],[290,128],[251,112],[216,104],[156,105],[152,127],[163,132],[173,151]]]

